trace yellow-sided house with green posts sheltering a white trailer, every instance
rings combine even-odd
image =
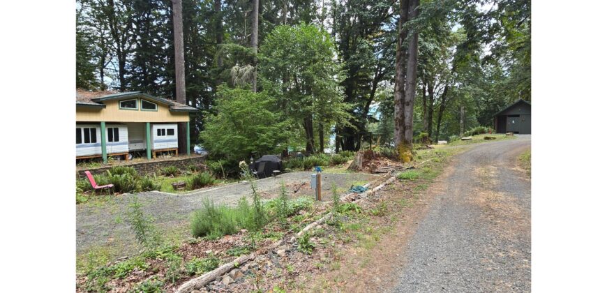
[[[76,158],[129,156],[159,151],[178,154],[177,123],[186,123],[190,154],[190,112],[195,107],[140,91],[76,91]]]

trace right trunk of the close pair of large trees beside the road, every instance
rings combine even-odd
[[[409,1],[409,20],[417,18],[419,0]],[[407,76],[405,82],[405,144],[410,145],[413,142],[413,102],[415,99],[415,89],[417,88],[417,36],[418,33],[412,33],[407,48]]]

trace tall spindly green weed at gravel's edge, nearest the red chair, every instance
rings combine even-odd
[[[153,219],[144,214],[142,207],[137,195],[134,195],[128,205],[128,225],[140,245],[148,250],[158,248],[162,244],[160,234],[152,224]]]

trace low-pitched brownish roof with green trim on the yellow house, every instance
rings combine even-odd
[[[170,111],[198,111],[198,109],[196,109],[195,107],[183,105],[181,103],[175,102],[174,100],[152,96],[141,91],[128,91],[121,93],[118,91],[86,91],[84,89],[76,89],[76,105],[81,105],[85,107],[105,107],[105,105],[102,103],[104,100],[118,100],[128,97],[147,98],[149,100],[153,100],[160,104],[169,106]]]

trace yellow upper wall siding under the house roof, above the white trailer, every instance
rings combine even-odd
[[[125,100],[129,100],[125,98]],[[118,100],[107,100],[105,109],[93,110],[76,107],[78,122],[187,122],[190,121],[188,112],[170,112],[167,105],[158,104],[158,111],[119,110]],[[140,105],[140,102],[137,102]]]

